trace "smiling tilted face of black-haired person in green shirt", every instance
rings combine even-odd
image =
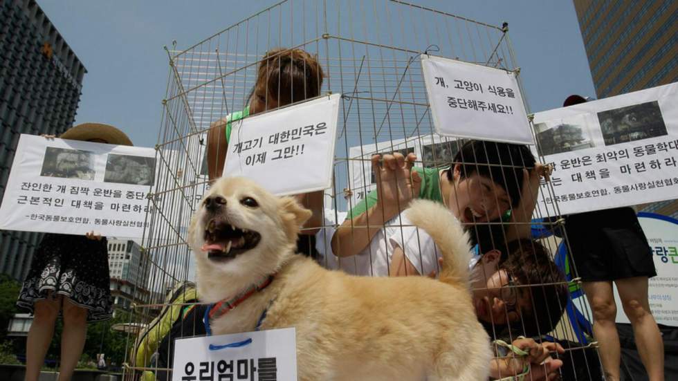
[[[506,213],[511,199],[504,188],[477,173],[461,178],[460,169],[455,165],[448,207],[462,223],[494,221]]]

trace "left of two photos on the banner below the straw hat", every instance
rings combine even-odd
[[[46,147],[40,176],[94,180],[94,154],[81,149]]]

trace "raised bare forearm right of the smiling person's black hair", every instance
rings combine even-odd
[[[532,215],[534,214],[539,198],[539,187],[542,176],[548,181],[553,169],[549,165],[535,163],[531,171],[523,169],[520,203],[511,212],[511,222],[506,232],[506,241],[515,239],[530,239],[532,235]]]

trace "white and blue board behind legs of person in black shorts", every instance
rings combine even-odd
[[[652,248],[657,277],[648,282],[652,316],[659,324],[678,326],[678,220],[661,214],[639,213],[638,221]],[[621,306],[619,292],[614,299]],[[617,308],[616,322],[630,323],[623,308]]]

